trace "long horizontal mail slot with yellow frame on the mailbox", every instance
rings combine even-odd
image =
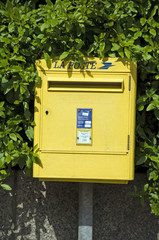
[[[48,81],[48,91],[123,92],[123,80],[118,82]]]

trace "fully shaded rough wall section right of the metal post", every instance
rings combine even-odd
[[[159,240],[159,218],[142,207],[130,195],[134,185],[139,189],[145,174],[136,174],[128,185],[94,185],[94,239],[93,240]]]

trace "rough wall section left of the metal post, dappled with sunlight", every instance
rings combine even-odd
[[[0,190],[1,240],[77,239],[78,183],[39,182],[15,171]]]

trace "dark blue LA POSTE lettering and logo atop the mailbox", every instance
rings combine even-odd
[[[103,66],[97,68],[97,62],[84,62],[84,64],[80,64],[80,63],[75,63],[75,62],[72,62],[70,61],[68,64],[67,64],[67,69],[81,69],[81,70],[94,70],[94,69],[108,69],[110,67],[113,67],[115,65],[112,65],[112,63],[109,63],[109,62],[106,62],[106,63],[102,63]],[[53,68],[55,69],[65,69],[66,68],[66,65],[65,65],[65,62],[59,62],[59,61],[56,61],[54,62],[54,66]]]

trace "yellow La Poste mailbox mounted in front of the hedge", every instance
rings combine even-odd
[[[136,64],[85,59],[36,62],[35,144],[49,181],[127,183],[134,178]]]

